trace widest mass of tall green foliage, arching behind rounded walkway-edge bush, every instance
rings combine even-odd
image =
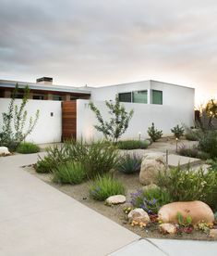
[[[90,144],[82,139],[68,141],[61,147],[47,148],[47,156],[36,164],[36,171],[39,169],[40,172],[41,170],[48,173],[53,172],[60,163],[68,161],[82,163],[90,179],[98,174],[108,173],[115,168],[118,162],[118,152],[111,143],[104,141]]]

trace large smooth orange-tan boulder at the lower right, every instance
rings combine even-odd
[[[187,216],[192,219],[192,224],[205,222],[211,224],[214,222],[214,214],[209,205],[202,201],[173,202],[163,205],[158,211],[158,218],[163,223],[178,224],[177,212],[183,216],[184,223]]]

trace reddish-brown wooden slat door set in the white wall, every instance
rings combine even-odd
[[[77,102],[62,102],[62,141],[75,138],[77,133]]]

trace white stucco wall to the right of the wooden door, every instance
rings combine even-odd
[[[103,119],[108,119],[109,114],[102,101],[93,101],[98,109],[102,112]],[[155,127],[163,130],[163,135],[170,135],[170,129],[176,124],[193,125],[194,109],[171,108],[163,105],[149,105],[138,103],[124,103],[127,111],[134,109],[134,115],[129,122],[126,134],[121,139],[148,137],[147,130],[154,122]],[[89,108],[89,100],[79,99],[77,101],[77,138],[83,137],[87,140],[102,138],[102,134],[97,132],[93,127],[97,123],[95,114]]]

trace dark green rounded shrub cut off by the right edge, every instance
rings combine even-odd
[[[217,158],[217,131],[206,131],[199,137],[199,149]]]

